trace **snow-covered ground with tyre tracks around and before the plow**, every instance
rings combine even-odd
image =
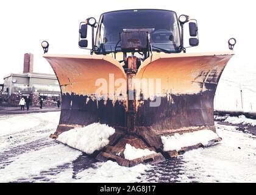
[[[222,141],[133,168],[100,163],[49,138],[60,112],[0,116],[0,182],[256,182],[256,137],[216,124]]]

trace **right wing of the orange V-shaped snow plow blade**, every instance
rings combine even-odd
[[[149,99],[148,93],[148,99],[137,101],[137,133],[151,146],[162,148],[162,135],[203,129],[215,132],[213,99],[232,55],[163,54],[145,60],[136,77],[154,80],[151,96],[158,100]],[[155,87],[157,79],[160,90]],[[152,102],[159,106],[151,107]]]

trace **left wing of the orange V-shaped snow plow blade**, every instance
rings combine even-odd
[[[96,94],[105,82],[126,79],[124,69],[115,59],[95,55],[44,55],[44,58],[51,64],[62,91],[57,134],[93,122],[125,126],[126,119],[121,116],[125,115],[126,101],[113,106],[115,98],[110,101],[109,96],[115,96],[114,93],[109,94],[107,89],[105,94]],[[113,80],[112,75],[115,76]],[[118,90],[118,86],[113,84],[112,87],[112,91]],[[102,99],[98,101],[96,98]]]

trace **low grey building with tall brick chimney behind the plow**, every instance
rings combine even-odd
[[[31,105],[38,105],[41,98],[44,105],[55,105],[60,99],[59,82],[54,74],[34,73],[33,54],[24,54],[23,73],[4,76],[2,99],[18,105],[22,97],[30,98]]]

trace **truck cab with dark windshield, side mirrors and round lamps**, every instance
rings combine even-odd
[[[88,18],[80,23],[80,48],[87,48],[87,26],[92,29],[91,54],[115,55],[118,60],[137,55],[142,60],[152,52],[180,53],[183,46],[183,25],[190,21],[187,15],[177,17],[170,10],[137,9],[102,13],[99,22]],[[94,40],[94,29],[96,38]],[[197,23],[190,23],[191,37],[198,37]],[[191,38],[190,46],[197,46],[198,38]],[[120,53],[123,55],[120,55]],[[121,59],[120,59],[121,57]]]

